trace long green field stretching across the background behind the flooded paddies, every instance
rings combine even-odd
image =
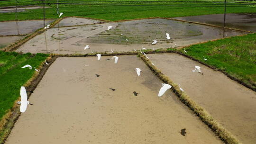
[[[185,1],[183,3],[186,3]],[[47,5],[46,18],[58,18],[56,4]],[[60,4],[59,11],[63,16],[79,16],[87,18],[99,18],[106,20],[124,20],[149,17],[185,17],[195,15],[221,14],[223,6],[165,6],[165,5],[73,5]],[[240,5],[239,7],[227,7],[227,13],[253,13],[254,7]],[[43,9],[27,9],[25,12],[17,13],[18,20],[43,19]],[[15,13],[0,13],[0,21],[15,20]]]

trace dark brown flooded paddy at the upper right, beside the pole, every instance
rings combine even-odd
[[[177,17],[175,19],[201,22],[223,27],[224,14]],[[226,14],[226,27],[256,32],[256,13]]]

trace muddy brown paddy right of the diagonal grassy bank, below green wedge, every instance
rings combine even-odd
[[[256,142],[256,92],[179,54],[148,54],[165,75],[243,144]],[[203,58],[202,58],[203,59]],[[210,61],[210,59],[208,59]],[[201,67],[204,75],[192,72]]]

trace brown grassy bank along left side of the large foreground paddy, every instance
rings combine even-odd
[[[32,77],[23,85],[26,87],[26,90],[29,91],[27,92],[28,99],[30,95],[33,93],[33,91],[36,89],[38,83],[41,81],[41,79],[45,75],[47,69],[56,60],[56,58],[57,58],[56,56],[47,57],[46,61],[49,65],[46,65],[45,61],[43,61],[38,66],[38,69],[40,71],[39,72],[34,71],[34,74],[32,75]],[[20,100],[20,97],[14,102],[13,107],[0,120],[0,144],[4,144],[8,135],[11,132],[11,129],[13,128],[15,122],[18,120],[18,117],[21,114],[19,111],[19,105],[16,103],[19,100]]]

